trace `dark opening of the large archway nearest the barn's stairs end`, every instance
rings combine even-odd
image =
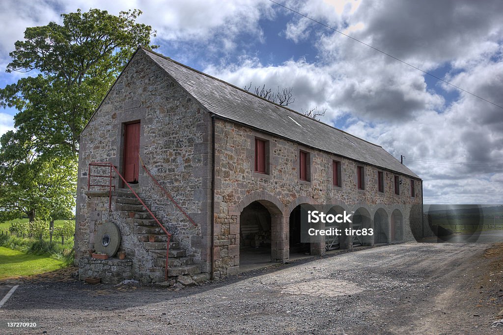
[[[271,248],[271,214],[261,203],[246,206],[239,217],[239,247]]]

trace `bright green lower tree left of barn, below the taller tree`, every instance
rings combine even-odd
[[[0,221],[69,218],[75,207],[76,162],[38,155],[33,142],[9,131],[0,141]]]

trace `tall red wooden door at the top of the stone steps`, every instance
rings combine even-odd
[[[124,126],[124,170],[122,174],[128,183],[138,182],[140,154],[140,123]]]

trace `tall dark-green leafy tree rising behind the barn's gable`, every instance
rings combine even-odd
[[[0,105],[19,110],[15,127],[32,137],[39,154],[78,153],[91,114],[138,45],[148,46],[154,36],[152,27],[135,22],[140,14],[78,10],[62,14],[62,25],[27,28],[15,43],[7,71],[36,75],[0,90]]]

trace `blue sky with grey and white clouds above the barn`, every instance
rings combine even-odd
[[[499,0],[277,2],[503,106]],[[290,108],[403,155],[425,204],[503,203],[502,108],[269,0],[3,1],[0,88],[30,75],[5,72],[25,29],[78,8],[140,9],[157,52],[238,87],[292,87]],[[0,134],[15,114],[0,109]]]

